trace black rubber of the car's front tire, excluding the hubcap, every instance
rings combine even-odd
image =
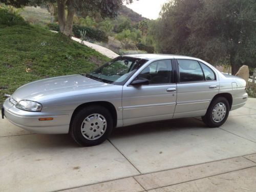
[[[81,133],[81,124],[83,120],[94,113],[98,113],[106,119],[106,131],[105,133],[96,140],[88,140],[82,136]],[[81,146],[93,146],[98,145],[105,141],[111,134],[113,130],[113,118],[109,110],[104,108],[103,106],[91,105],[87,106],[79,110],[76,114],[74,114],[74,118],[72,119],[70,126],[70,134],[72,138]]]

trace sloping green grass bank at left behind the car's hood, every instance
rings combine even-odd
[[[0,25],[0,103],[25,83],[87,73],[110,59],[39,26]]]

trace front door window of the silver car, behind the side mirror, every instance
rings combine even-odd
[[[150,63],[139,75],[138,78],[146,78],[150,84],[164,84],[172,82],[172,63],[170,59],[159,60]]]

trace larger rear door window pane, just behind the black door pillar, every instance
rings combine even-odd
[[[196,60],[177,59],[180,72],[180,82],[203,81],[204,74]]]

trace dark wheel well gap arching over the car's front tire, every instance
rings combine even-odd
[[[83,109],[83,108],[86,108],[87,106],[90,106],[90,105],[100,105],[100,106],[103,106],[104,108],[108,109],[113,117],[113,123],[114,123],[114,127],[116,127],[116,124],[117,124],[117,113],[116,113],[116,109],[115,109],[115,106],[108,102],[108,101],[95,101],[95,102],[88,102],[88,103],[83,103],[83,104],[80,104],[79,106],[77,106],[77,108],[75,109],[75,111],[73,112],[72,114],[72,117],[71,117],[71,121],[73,120],[73,117],[74,115],[80,110],[80,109]]]

